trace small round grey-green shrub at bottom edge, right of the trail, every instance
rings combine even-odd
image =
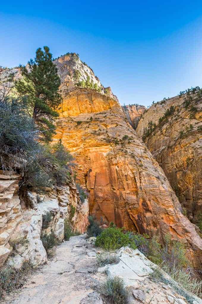
[[[114,304],[126,304],[129,302],[128,288],[124,280],[117,276],[108,278],[107,281],[101,285],[100,292]]]

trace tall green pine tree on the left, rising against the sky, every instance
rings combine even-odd
[[[55,109],[61,103],[61,95],[60,78],[49,47],[38,48],[35,59],[28,61],[28,68],[21,66],[21,69],[23,79],[16,82],[16,89],[26,96],[28,113],[38,125],[41,139],[50,141],[55,133],[53,120],[58,116]]]

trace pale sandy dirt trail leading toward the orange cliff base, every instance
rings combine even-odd
[[[95,248],[86,242],[85,236],[71,237],[56,248],[52,261],[3,303],[102,303],[93,290],[98,285],[95,256]]]

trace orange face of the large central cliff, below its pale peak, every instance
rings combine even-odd
[[[169,233],[200,251],[195,226],[181,213],[162,168],[116,100],[75,89],[63,97],[59,112],[54,140],[61,139],[74,154],[91,214],[150,236]],[[192,249],[189,253],[193,255]]]

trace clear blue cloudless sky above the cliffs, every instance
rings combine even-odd
[[[38,47],[80,55],[121,104],[149,105],[202,86],[202,1],[6,1],[0,65]]]

